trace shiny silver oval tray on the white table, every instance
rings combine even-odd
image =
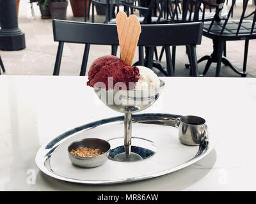
[[[205,157],[214,149],[217,138],[209,139],[199,146],[182,145],[178,129],[170,119],[181,117],[163,113],[132,115],[132,145],[144,145],[154,152],[153,156],[136,162],[119,162],[108,159],[97,168],[79,168],[69,158],[67,147],[81,138],[102,138],[111,143],[111,149],[124,142],[124,117],[111,117],[71,129],[37,152],[38,168],[55,179],[82,184],[117,184],[159,177],[180,170]],[[114,141],[114,142],[113,142]]]

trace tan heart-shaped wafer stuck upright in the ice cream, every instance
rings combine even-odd
[[[141,33],[140,21],[136,15],[130,15],[127,18],[124,11],[119,11],[116,15],[116,27],[121,59],[124,64],[131,66]]]

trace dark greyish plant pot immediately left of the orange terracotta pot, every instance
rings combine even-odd
[[[66,20],[67,6],[68,6],[67,1],[51,2],[50,11],[51,11],[52,19]]]

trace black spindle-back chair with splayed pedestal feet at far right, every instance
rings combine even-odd
[[[237,74],[241,75],[241,77],[246,77],[246,63],[247,63],[247,55],[248,55],[248,45],[249,41],[252,39],[256,39],[256,29],[255,29],[255,21],[256,21],[256,8],[253,13],[252,20],[244,20],[247,18],[245,16],[248,0],[244,1],[243,10],[241,13],[241,17],[239,20],[230,20],[230,15],[234,10],[234,5],[236,4],[236,0],[232,1],[232,5],[230,10],[228,11],[227,18],[221,19],[219,17],[219,13],[221,12],[220,4],[224,4],[225,0],[217,0],[216,4],[216,15],[212,19],[211,22],[204,23],[204,36],[207,38],[211,38],[213,41],[213,52],[211,55],[205,55],[202,57],[199,62],[207,60],[207,64],[205,66],[204,72],[202,75],[204,76],[209,70],[212,62],[216,62],[216,77],[220,77],[220,68],[221,62],[225,64],[225,66],[229,66],[233,71]],[[223,56],[223,48],[225,46],[226,41],[234,41],[234,40],[244,40],[244,62],[243,62],[243,71],[238,71],[230,61],[228,61],[227,57]]]

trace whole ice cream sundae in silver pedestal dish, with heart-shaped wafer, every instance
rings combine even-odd
[[[116,15],[116,27],[121,59],[106,55],[96,59],[90,67],[87,85],[94,88],[99,99],[109,108],[125,113],[124,152],[116,154],[115,161],[140,161],[139,154],[131,152],[132,113],[152,105],[164,82],[144,66],[132,66],[141,33],[140,21],[135,15],[120,11]]]

